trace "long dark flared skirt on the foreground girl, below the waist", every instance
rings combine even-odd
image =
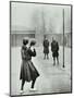
[[[33,62],[29,61],[22,61],[22,66],[21,66],[21,74],[20,74],[20,79],[25,79],[27,82],[30,82],[39,76],[38,71],[34,66]]]

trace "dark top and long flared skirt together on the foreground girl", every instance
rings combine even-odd
[[[25,57],[22,59],[22,66],[21,66],[21,75],[20,79],[25,79],[27,82],[30,82],[39,76],[39,73],[37,72],[36,68],[34,66],[32,62],[32,57],[36,56],[36,51],[29,49],[24,50],[24,53],[22,53],[22,57]]]

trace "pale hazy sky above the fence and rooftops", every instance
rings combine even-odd
[[[55,4],[16,3],[11,4],[11,29],[42,29],[62,33],[64,9],[65,33],[71,32],[71,7]]]

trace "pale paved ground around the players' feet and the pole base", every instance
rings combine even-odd
[[[29,91],[32,83],[26,83],[23,95],[71,91],[71,49],[65,48],[64,69],[62,68],[62,47],[60,47],[60,64],[55,66],[52,65],[51,51],[49,53],[49,60],[44,60],[42,47],[37,47],[36,50],[37,57],[33,58],[33,62],[40,74],[35,84],[37,90]],[[11,94],[21,95],[21,47],[12,48],[11,51]]]

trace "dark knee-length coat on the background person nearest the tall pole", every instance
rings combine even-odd
[[[58,44],[58,41],[55,41],[55,40],[53,40],[52,42],[51,42],[51,51],[52,51],[52,57],[54,58],[54,57],[59,57],[59,44]]]

